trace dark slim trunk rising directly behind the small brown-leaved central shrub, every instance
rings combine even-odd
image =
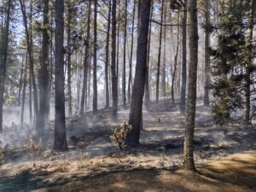
[[[117,116],[118,105],[118,82],[116,75],[116,0],[112,5],[112,50],[111,50],[111,75],[112,75],[112,114]]]

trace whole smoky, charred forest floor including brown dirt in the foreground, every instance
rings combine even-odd
[[[65,153],[50,150],[54,132],[50,123],[44,151],[37,158],[27,152],[27,137],[18,141],[19,131],[16,136],[6,133],[0,191],[256,190],[256,129],[242,125],[241,117],[234,117],[229,125],[213,125],[210,108],[197,107],[198,172],[191,173],[181,169],[185,118],[177,105],[153,103],[144,110],[141,145],[117,155],[110,137],[128,113],[128,108],[121,109],[118,121],[111,119],[109,109],[67,118]]]

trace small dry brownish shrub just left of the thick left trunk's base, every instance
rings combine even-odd
[[[40,156],[43,152],[42,139],[40,138],[39,141],[36,142],[32,137],[29,137],[27,141],[27,150],[32,158]]]

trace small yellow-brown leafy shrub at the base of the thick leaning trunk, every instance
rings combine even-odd
[[[131,125],[127,122],[123,122],[122,125],[116,127],[113,130],[112,139],[113,142],[117,143],[119,146],[119,151],[122,151],[125,146],[125,138],[127,134],[131,131]]]

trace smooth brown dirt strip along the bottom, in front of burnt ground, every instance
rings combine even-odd
[[[256,152],[197,166],[198,172],[135,170],[79,178],[49,191],[245,192],[256,189]]]

